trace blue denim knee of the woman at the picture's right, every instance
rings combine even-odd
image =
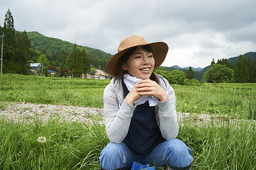
[[[166,141],[168,147],[163,152],[166,155],[166,159],[172,167],[187,167],[193,161],[191,150],[186,146],[184,142],[179,139],[173,139]]]

